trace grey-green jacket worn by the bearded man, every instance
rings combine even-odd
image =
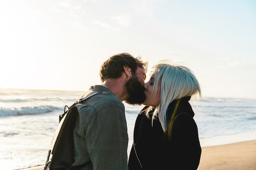
[[[79,116],[74,128],[73,166],[91,163],[81,170],[128,170],[128,133],[125,108],[106,86],[91,86],[89,91],[104,91],[76,107]]]

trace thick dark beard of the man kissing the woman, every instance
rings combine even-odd
[[[127,95],[126,100],[124,102],[131,105],[141,105],[145,101],[145,88],[139,82],[137,76],[132,75],[132,77],[126,82],[124,87],[126,89],[125,92]]]

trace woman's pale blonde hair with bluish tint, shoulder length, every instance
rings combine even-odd
[[[194,99],[196,94],[201,98],[201,88],[194,73],[186,66],[171,64],[169,60],[159,61],[153,68],[155,73],[155,81],[153,85],[152,95],[155,97],[157,87],[161,86],[161,95],[159,104],[156,106],[152,117],[153,119],[158,116],[164,132],[168,126],[166,110],[168,105],[175,99],[191,96]],[[152,110],[150,106],[146,110],[146,115]],[[153,124],[152,124],[153,125]]]

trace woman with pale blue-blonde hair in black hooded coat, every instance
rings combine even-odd
[[[193,72],[161,61],[146,88],[138,115],[129,170],[196,170],[201,156],[198,128],[189,104],[201,89]]]

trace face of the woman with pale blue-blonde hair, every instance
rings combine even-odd
[[[146,106],[152,106],[153,108],[156,108],[156,106],[160,102],[160,94],[161,94],[161,83],[157,86],[157,94],[155,97],[152,95],[153,91],[153,85],[155,82],[155,73],[150,77],[150,80],[144,84],[145,87],[145,94],[146,94],[146,100],[144,101],[144,105]]]

